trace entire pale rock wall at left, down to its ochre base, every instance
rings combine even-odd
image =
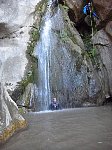
[[[26,126],[7,90],[13,91],[24,76],[28,63],[26,50],[29,31],[34,23],[33,12],[38,2],[0,1],[0,142]]]

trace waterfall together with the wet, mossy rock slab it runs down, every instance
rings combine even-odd
[[[79,107],[91,90],[81,54],[83,41],[64,15],[62,7],[49,0],[35,49],[38,59],[36,111],[47,110],[53,97],[62,108]]]

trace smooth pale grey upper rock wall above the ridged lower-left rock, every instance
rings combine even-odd
[[[24,75],[29,31],[33,24],[33,1],[0,1],[0,61],[3,65],[2,80],[14,88]],[[14,65],[15,64],[15,65]]]

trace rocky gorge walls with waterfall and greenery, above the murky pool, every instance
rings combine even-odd
[[[112,102],[112,2],[0,1],[0,142],[27,127],[28,112]]]

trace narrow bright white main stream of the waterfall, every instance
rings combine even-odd
[[[51,5],[52,0],[48,2],[48,8],[44,17],[44,26],[41,29],[40,41],[37,45],[37,57],[38,57],[38,101],[40,110],[47,110],[51,101],[50,90],[50,51],[51,51]]]

